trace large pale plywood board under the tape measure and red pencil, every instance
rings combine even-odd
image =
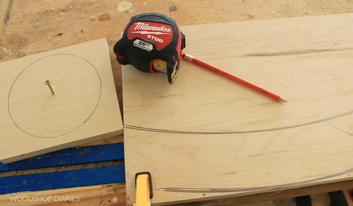
[[[128,204],[152,174],[156,205],[353,178],[353,15],[181,27],[177,79],[122,67]]]

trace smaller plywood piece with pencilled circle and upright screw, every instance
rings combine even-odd
[[[2,62],[0,72],[3,163],[123,133],[105,38]]]

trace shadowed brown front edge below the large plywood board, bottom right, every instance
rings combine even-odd
[[[297,188],[278,188],[274,191],[266,191],[262,193],[255,194],[233,194],[233,195],[222,195],[213,196],[209,198],[199,198],[190,199],[183,201],[173,201],[173,202],[161,202],[153,203],[153,205],[168,205],[168,206],[207,206],[207,205],[217,205],[217,206],[231,206],[231,205],[244,205],[255,202],[263,202],[269,200],[277,200],[284,198],[294,198],[298,196],[333,192],[337,190],[348,190],[352,189],[353,179],[340,181],[340,182],[328,182],[324,184],[316,184],[305,187]]]

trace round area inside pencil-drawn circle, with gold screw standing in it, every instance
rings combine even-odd
[[[54,95],[46,80],[50,80]],[[7,105],[20,130],[34,137],[53,138],[86,123],[100,96],[101,79],[89,61],[55,54],[23,69],[11,86]]]

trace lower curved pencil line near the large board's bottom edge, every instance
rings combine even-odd
[[[311,183],[319,180],[325,180],[331,177],[336,177],[344,174],[348,174],[350,172],[353,172],[353,168],[347,169],[343,172],[339,172],[337,174],[333,175],[328,175],[324,177],[319,177],[316,179],[312,180],[306,180],[306,181],[301,181],[301,182],[295,182],[295,183],[288,183],[288,184],[277,184],[273,186],[264,186],[264,187],[246,187],[246,188],[160,188],[163,189],[163,191],[166,192],[186,192],[186,193],[229,193],[229,192],[250,192],[254,190],[264,190],[264,189],[280,189],[283,187],[290,187],[290,186],[295,186],[295,185],[300,185],[300,184],[306,184],[306,183]],[[157,190],[160,190],[157,189]]]

